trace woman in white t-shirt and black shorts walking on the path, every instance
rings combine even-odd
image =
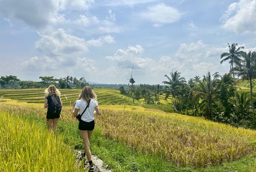
[[[84,109],[86,109],[86,111],[84,111]],[[94,171],[90,150],[90,138],[95,126],[94,115],[99,115],[101,112],[98,107],[97,95],[90,86],[85,86],[83,90],[81,90],[79,100],[74,103],[73,116],[77,117],[78,114],[82,114],[79,120],[79,132],[84,143],[84,152],[81,153],[82,158],[84,158],[85,155],[87,156],[87,160],[90,164],[89,171]]]

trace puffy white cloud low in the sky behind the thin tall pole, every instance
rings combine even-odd
[[[136,83],[143,83],[147,80],[150,84],[159,84],[165,78],[164,75],[170,71],[184,71],[184,63],[176,57],[162,56],[155,60],[150,57],[143,57],[144,49],[140,45],[129,46],[126,49],[118,49],[113,56],[107,56],[106,60],[112,61],[113,66],[108,68],[105,75],[109,78],[121,80],[129,78],[131,68],[134,65],[133,74]],[[117,75],[118,74],[118,75]]]

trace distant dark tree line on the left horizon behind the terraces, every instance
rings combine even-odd
[[[31,89],[45,88],[49,85],[55,85],[61,89],[83,88],[89,85],[84,77],[77,79],[76,77],[67,75],[64,78],[56,79],[54,76],[40,76],[41,81],[20,80],[17,76],[1,76],[0,89]]]

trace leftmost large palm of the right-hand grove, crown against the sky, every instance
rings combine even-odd
[[[167,81],[163,81],[163,84],[167,84],[170,87],[170,92],[172,94],[172,102],[173,102],[173,106],[175,107],[176,105],[176,95],[178,92],[178,88],[179,86],[181,86],[183,83],[186,83],[185,78],[180,77],[180,72],[170,72],[170,76],[165,75],[165,77],[168,79]]]

